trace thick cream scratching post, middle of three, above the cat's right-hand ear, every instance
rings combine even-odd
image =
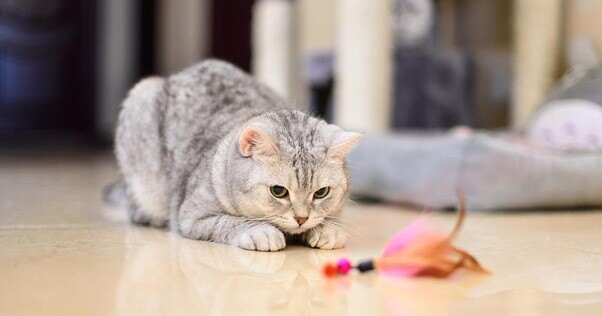
[[[386,131],[391,116],[390,0],[338,4],[335,123]]]

